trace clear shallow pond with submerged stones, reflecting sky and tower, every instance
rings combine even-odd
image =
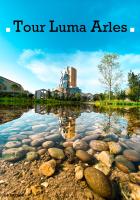
[[[16,163],[15,166],[51,158],[57,163],[67,160],[74,166],[84,163],[84,167],[94,166],[111,181],[128,184],[128,176],[132,175],[129,181],[139,187],[140,108],[2,106],[0,123],[1,161]],[[49,158],[45,158],[46,155]],[[128,189],[127,184],[124,187],[123,184],[124,197],[129,198],[132,185]],[[133,192],[136,190],[131,188]],[[122,196],[118,196],[118,199]]]

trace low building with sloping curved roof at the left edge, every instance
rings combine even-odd
[[[14,81],[0,76],[0,93],[22,93],[23,87]]]

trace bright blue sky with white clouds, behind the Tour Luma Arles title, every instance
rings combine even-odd
[[[135,32],[43,33],[15,32],[13,20],[24,24],[126,24]],[[6,27],[11,32],[5,31]],[[99,93],[98,64],[105,53],[119,54],[120,68],[127,87],[130,70],[140,72],[139,0],[0,0],[0,76],[20,83],[24,89],[54,89],[61,71],[77,69],[78,86],[83,92]]]

